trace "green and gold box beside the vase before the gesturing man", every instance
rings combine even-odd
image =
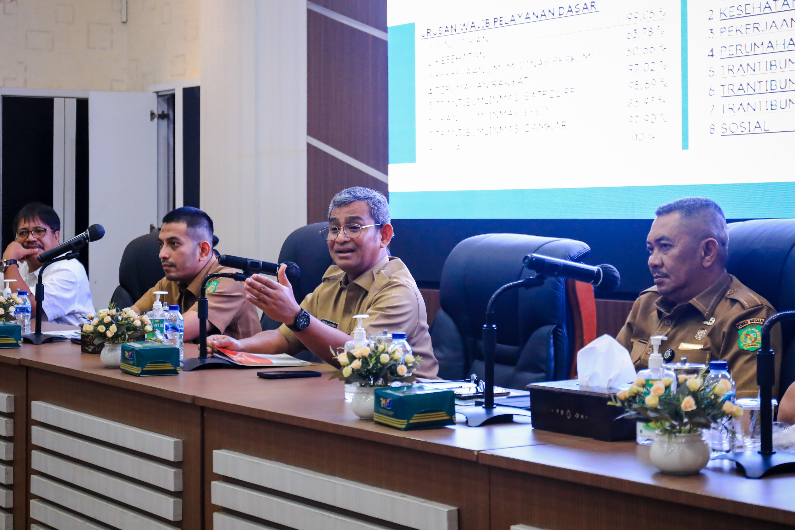
[[[426,385],[375,389],[374,412],[375,423],[401,431],[444,427],[456,423],[456,396]]]

